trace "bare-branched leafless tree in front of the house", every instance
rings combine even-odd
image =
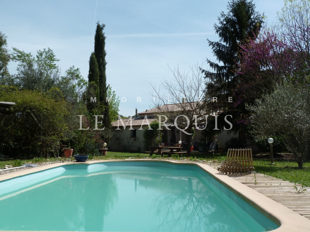
[[[211,81],[206,81],[198,64],[191,66],[188,72],[180,71],[179,67],[170,71],[172,80],[162,80],[158,89],[152,85],[151,95],[158,115],[164,115],[159,117],[161,122],[167,122],[187,135],[189,157],[194,129],[205,129],[208,116],[220,111],[224,99],[214,95],[215,89],[210,88]]]

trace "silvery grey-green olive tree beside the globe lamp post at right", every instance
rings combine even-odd
[[[255,135],[262,139],[282,137],[299,168],[310,152],[309,100],[308,89],[286,84],[248,107],[253,113],[250,120]]]

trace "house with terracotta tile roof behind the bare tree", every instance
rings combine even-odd
[[[119,119],[115,122],[112,122],[112,130],[115,131],[115,136],[110,140],[110,150],[127,150],[127,151],[144,151],[144,137],[143,132],[148,128],[148,124],[158,121],[158,116],[163,114],[162,112],[175,112],[177,115],[178,112],[188,109],[190,110],[190,104],[186,102],[181,107],[180,104],[165,104],[155,107],[150,110],[145,110],[140,113],[137,112],[135,117]],[[196,104],[196,103],[195,103]],[[125,128],[124,128],[125,127]],[[186,134],[178,129],[174,124],[168,124],[168,128],[162,127],[162,145],[174,145],[179,141],[186,141]],[[170,129],[170,130],[169,130]],[[227,135],[226,132],[223,132],[219,135],[221,141],[226,142],[230,137],[236,135]],[[204,136],[201,135],[201,131],[196,130],[192,141],[199,142],[203,139]]]

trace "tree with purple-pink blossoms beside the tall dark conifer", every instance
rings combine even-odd
[[[285,38],[272,30],[263,30],[240,45],[234,104],[252,104],[263,93],[273,92],[277,85],[291,82],[302,66],[296,49]]]

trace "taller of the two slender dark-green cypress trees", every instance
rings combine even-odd
[[[106,77],[106,65],[105,61],[106,51],[105,51],[105,35],[104,35],[104,24],[99,24],[97,22],[97,28],[95,33],[95,58],[98,64],[99,70],[99,101],[100,105],[104,107],[104,118],[103,125],[109,128],[111,125],[110,114],[109,114],[109,102],[106,100],[107,97],[107,77]]]

